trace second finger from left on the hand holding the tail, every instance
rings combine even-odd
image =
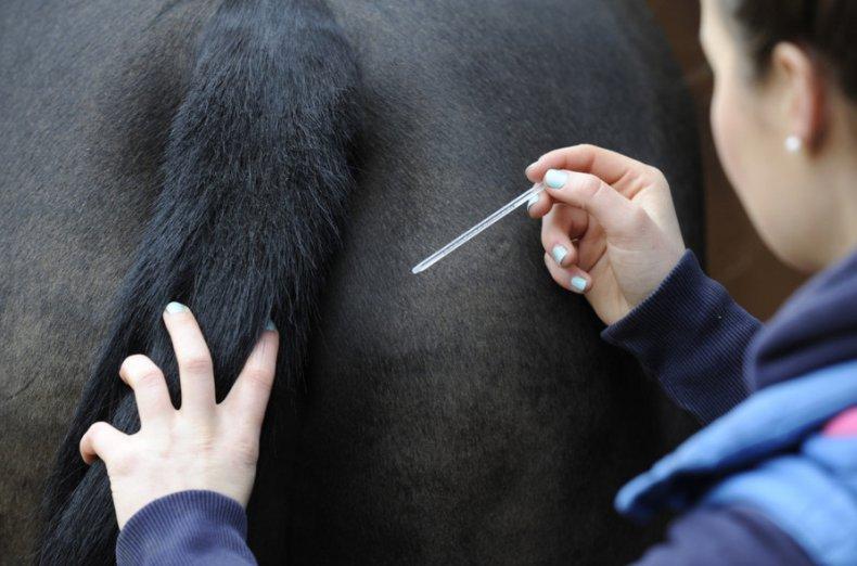
[[[148,357],[135,353],[125,358],[119,377],[133,389],[141,426],[163,423],[175,411],[164,373]]]

